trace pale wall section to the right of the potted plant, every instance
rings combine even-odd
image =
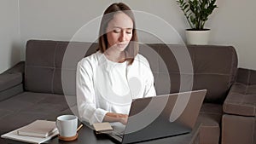
[[[239,66],[256,70],[256,1],[218,0],[216,14],[208,24],[212,27],[212,44],[228,44],[236,48]]]

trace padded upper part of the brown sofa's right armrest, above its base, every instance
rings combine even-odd
[[[224,112],[241,116],[256,116],[256,71],[239,68],[236,83],[224,101]]]

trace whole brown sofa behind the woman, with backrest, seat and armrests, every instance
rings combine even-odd
[[[255,100],[255,95],[253,97],[248,91],[242,93],[242,88],[248,90],[245,85],[255,84],[256,72],[239,69],[236,77],[237,55],[232,46],[190,45],[185,48],[189,55],[181,55],[182,59],[177,60],[177,54],[183,54],[182,47],[163,43],[141,44],[140,50],[148,58],[154,73],[157,94],[207,89],[198,118],[198,123],[202,124],[200,143],[218,144],[221,140],[235,143],[230,142],[231,137],[238,135],[241,128],[236,124],[242,123],[247,124],[243,129],[247,135],[252,135],[252,143],[255,143],[255,101],[250,101],[250,107],[240,107],[239,101],[245,97]],[[84,55],[93,52],[96,52],[96,43],[29,40],[26,43],[26,62],[20,62],[0,75],[0,135],[38,118],[55,119],[63,113],[77,114],[76,64]],[[193,72],[178,65],[185,59],[182,56],[189,56]],[[250,80],[246,79],[248,77]],[[252,86],[250,89],[253,93],[256,88]],[[246,96],[239,99],[238,93]],[[236,103],[236,107],[232,103]],[[247,137],[243,141],[247,141]],[[0,143],[4,143],[3,139]]]

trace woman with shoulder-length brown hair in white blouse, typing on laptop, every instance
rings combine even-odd
[[[113,3],[105,10],[99,51],[77,66],[79,116],[90,124],[127,123],[134,98],[154,96],[148,60],[138,54],[137,31],[131,9]]]

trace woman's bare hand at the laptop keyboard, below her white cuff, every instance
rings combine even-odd
[[[103,118],[103,121],[120,122],[122,124],[127,124],[127,120],[128,120],[127,114],[114,113],[114,112],[106,113],[105,117]]]

